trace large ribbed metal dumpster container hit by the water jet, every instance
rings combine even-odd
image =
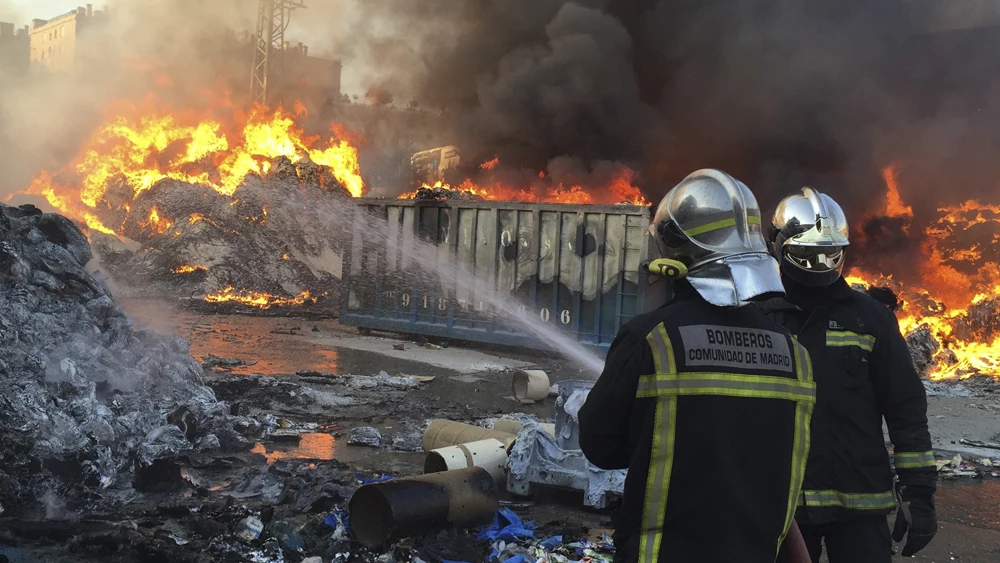
[[[603,352],[667,298],[668,284],[640,271],[648,207],[356,201],[346,325],[546,349],[523,330],[534,316]]]

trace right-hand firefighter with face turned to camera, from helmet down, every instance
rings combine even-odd
[[[936,467],[924,387],[896,318],[841,276],[848,235],[829,196],[803,188],[782,200],[769,241],[786,295],[761,309],[809,349],[815,366],[817,404],[796,518],[810,556],[818,562],[825,543],[831,563],[884,563],[892,539],[909,531],[909,556],[937,532]],[[887,515],[897,504],[890,539]]]

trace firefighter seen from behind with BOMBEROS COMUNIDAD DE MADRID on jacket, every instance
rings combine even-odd
[[[748,303],[781,295],[750,190],[699,170],[650,227],[674,297],[622,327],[579,413],[596,466],[628,468],[615,561],[773,563],[793,521],[815,384],[805,347]]]

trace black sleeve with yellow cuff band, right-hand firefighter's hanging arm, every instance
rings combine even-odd
[[[927,429],[927,395],[899,323],[888,309],[879,311],[880,326],[872,350],[875,395],[889,428],[900,484],[937,486],[937,466]]]

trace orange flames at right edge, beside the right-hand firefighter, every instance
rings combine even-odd
[[[903,204],[899,194],[895,167],[886,168],[883,178],[887,188],[886,215],[912,218],[912,208]],[[889,286],[902,301],[896,313],[903,334],[920,328],[930,331],[941,345],[928,373],[931,379],[966,379],[977,374],[1000,378],[1000,334],[991,336],[984,328],[970,327],[965,321],[970,307],[1000,297],[1000,264],[985,262],[970,269],[974,273],[963,273],[948,262],[980,262],[981,243],[966,248],[946,247],[956,235],[976,225],[1000,226],[1000,206],[967,201],[961,206],[939,208],[938,212],[940,217],[924,229],[923,255],[917,257],[920,279],[913,285],[857,268],[849,272],[847,281]],[[959,330],[960,326],[964,330]]]

